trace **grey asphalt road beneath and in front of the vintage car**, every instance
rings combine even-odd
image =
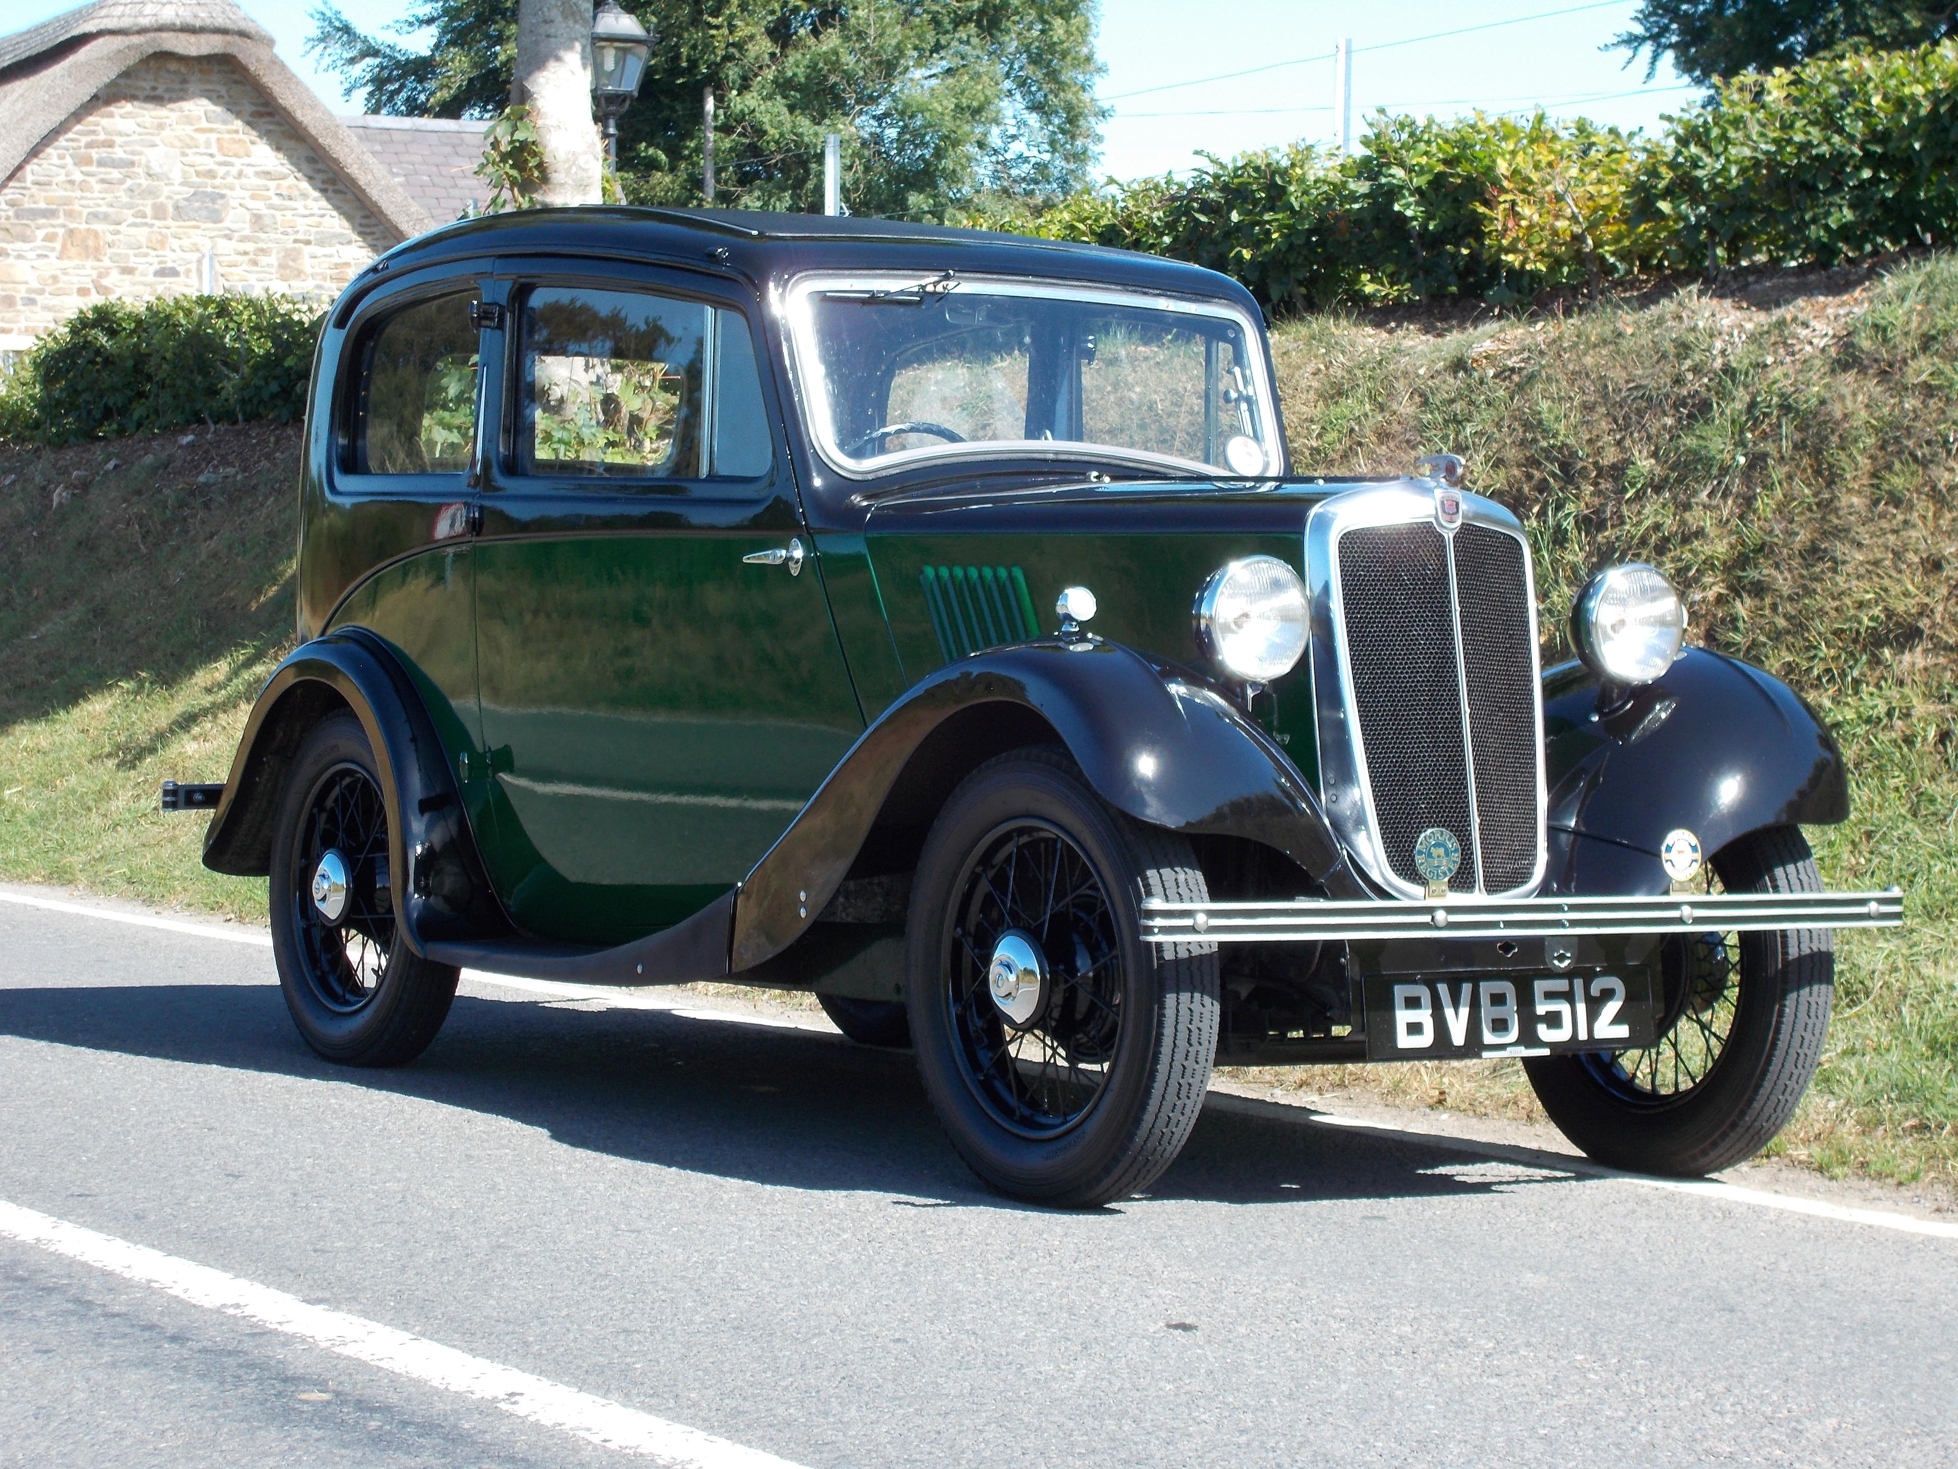
[[[1024,1208],[807,1026],[468,981],[347,1071],[266,948],[0,903],[0,1465],[646,1461],[22,1210],[811,1467],[1958,1461],[1954,1238],[1222,1101]]]

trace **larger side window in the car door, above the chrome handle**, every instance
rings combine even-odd
[[[748,323],[646,292],[538,286],[523,304],[521,474],[693,480],[773,462]]]

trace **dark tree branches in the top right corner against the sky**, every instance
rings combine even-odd
[[[1794,67],[1809,57],[1872,47],[1899,51],[1958,33],[1948,0],[1645,0],[1611,45],[1658,59],[1672,53],[1682,76]]]

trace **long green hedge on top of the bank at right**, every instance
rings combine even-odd
[[[1655,268],[1835,264],[1958,237],[1958,43],[1741,76],[1662,137],[1376,114],[1294,145],[965,223],[1153,251],[1273,309],[1527,300]]]

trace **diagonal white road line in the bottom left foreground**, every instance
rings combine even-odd
[[[313,1306],[268,1285],[241,1281],[210,1265],[96,1234],[6,1201],[0,1201],[0,1236],[155,1287],[194,1306],[221,1310],[296,1336],[370,1367],[480,1398],[517,1418],[576,1434],[601,1447],[644,1455],[672,1469],[797,1469],[773,1453],[748,1449],[697,1428],[627,1408],[623,1402],[472,1357],[441,1342],[349,1316],[345,1310]]]

